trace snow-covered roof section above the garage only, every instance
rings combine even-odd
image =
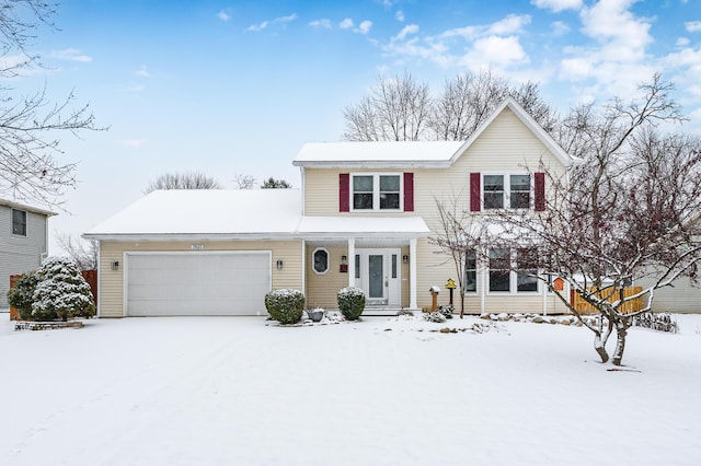
[[[267,237],[297,230],[299,189],[171,189],[137,200],[84,234],[100,240]]]

